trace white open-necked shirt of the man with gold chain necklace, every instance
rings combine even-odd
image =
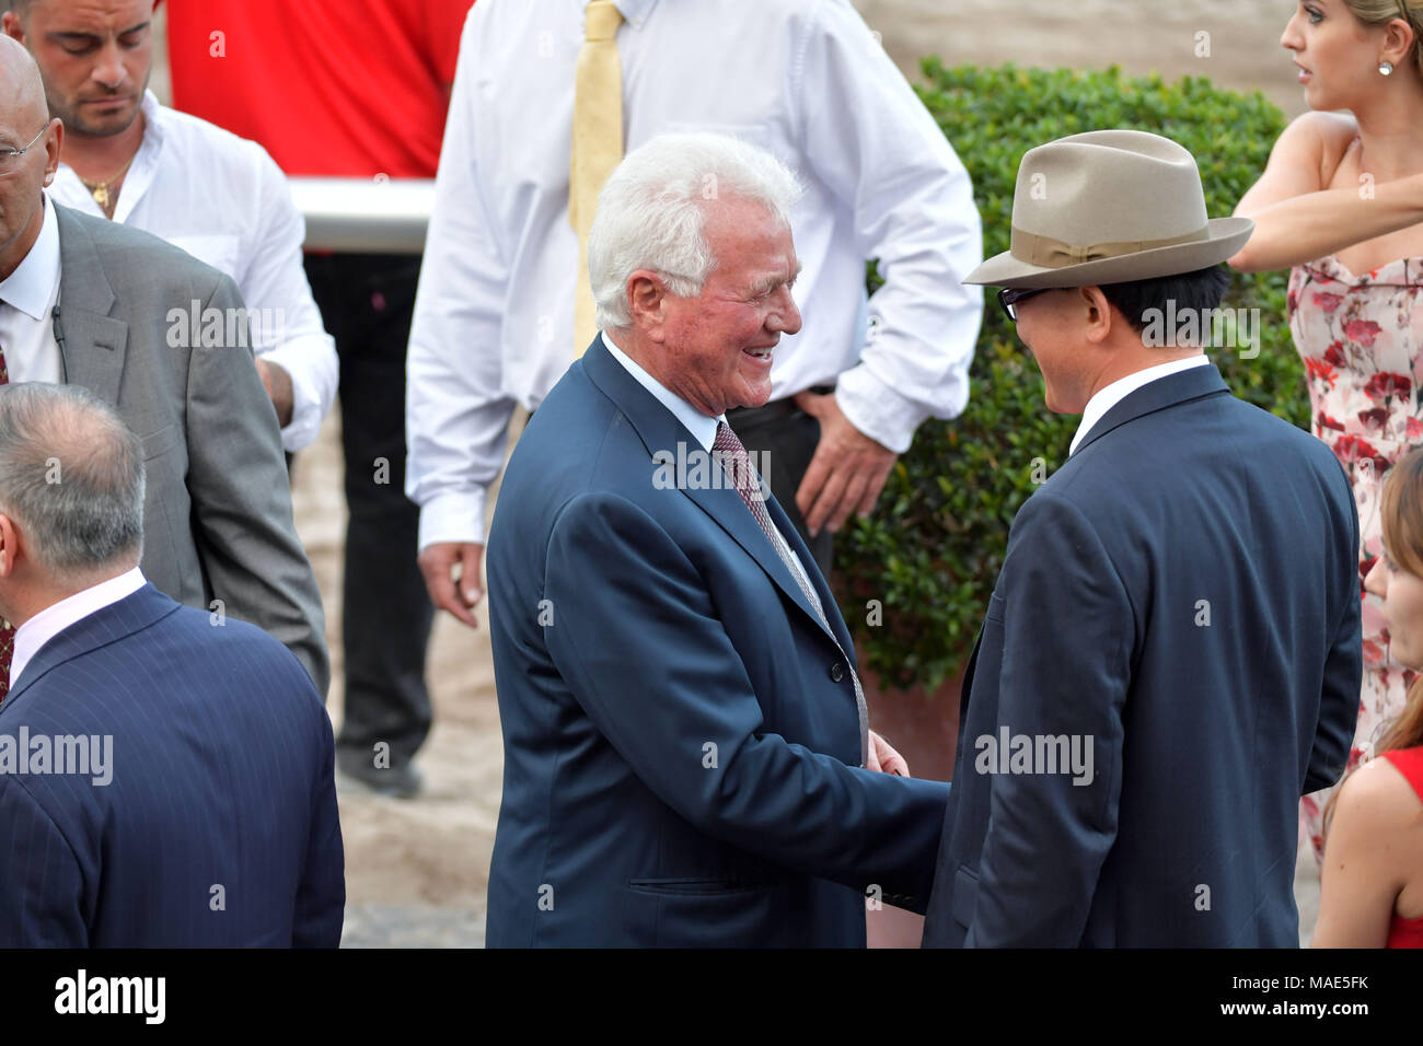
[[[286,175],[256,142],[159,105],[152,91],[144,94],[142,111],[144,141],[120,186],[114,221],[233,279],[252,319],[253,350],[292,376],[292,423],[282,430],[282,445],[307,447],[336,398],[339,364],[302,268],[306,222]],[[60,164],[50,192],[65,206],[104,216],[68,164]]]

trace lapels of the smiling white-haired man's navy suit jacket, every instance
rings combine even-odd
[[[592,346],[583,353],[579,364],[582,366],[589,380],[598,386],[608,398],[610,398],[622,410],[623,416],[632,423],[633,428],[638,430],[639,438],[642,438],[643,445],[647,448],[649,460],[659,451],[667,454],[677,454],[677,444],[684,444],[689,450],[702,450],[702,444],[697,443],[696,437],[686,430],[686,427],[673,417],[672,411],[663,407],[657,400],[640,384],[636,379],[626,371],[626,369],[612,357],[612,353],[603,347],[602,339],[595,337]],[[655,467],[655,465],[652,465]],[[650,482],[650,474],[649,474]],[[764,487],[764,481],[763,481]],[[815,613],[815,608],[811,606],[810,599],[801,591],[801,586],[791,576],[790,568],[781,562],[780,555],[771,546],[770,539],[761,532],[760,525],[756,522],[756,517],[751,515],[746,502],[741,501],[741,495],[736,492],[730,484],[721,487],[713,487],[707,484],[702,487],[692,487],[690,484],[680,485],[682,494],[692,498],[702,508],[703,512],[710,515],[717,525],[726,531],[743,549],[750,555],[763,571],[780,586],[781,592],[794,602],[805,615],[815,622],[815,625],[825,632],[831,639],[835,639],[834,632],[830,632],[824,623],[820,620],[820,615]],[[771,519],[785,535],[791,548],[795,549],[797,555],[801,556],[801,564],[805,566],[805,574],[813,579],[813,583],[820,578],[820,571],[815,568],[815,561],[810,558],[810,552],[805,549],[804,542],[795,532],[794,527],[790,527],[785,512],[776,498],[771,497],[770,491],[766,495],[767,509],[770,511]],[[817,592],[825,606],[834,606],[828,602],[830,593],[821,583],[815,583]],[[827,618],[828,618],[827,612]],[[841,642],[837,639],[837,642]],[[848,648],[847,648],[848,649]]]

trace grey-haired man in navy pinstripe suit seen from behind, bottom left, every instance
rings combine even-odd
[[[332,724],[272,636],[138,569],[142,444],[0,387],[0,946],[334,946]]]

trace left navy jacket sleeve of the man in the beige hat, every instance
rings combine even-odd
[[[1009,736],[1076,737],[1091,751],[1091,774],[1033,767],[992,777],[965,944],[1076,946],[1117,835],[1134,616],[1090,521],[1047,491],[1013,522],[999,591],[1006,606],[995,744],[1005,727]],[[961,774],[985,773],[1000,757],[979,739],[965,739],[962,750]]]

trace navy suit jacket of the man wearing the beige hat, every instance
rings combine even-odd
[[[1359,706],[1358,554],[1331,450],[1214,366],[1107,411],[1013,521],[925,944],[1296,946],[1299,797]]]

